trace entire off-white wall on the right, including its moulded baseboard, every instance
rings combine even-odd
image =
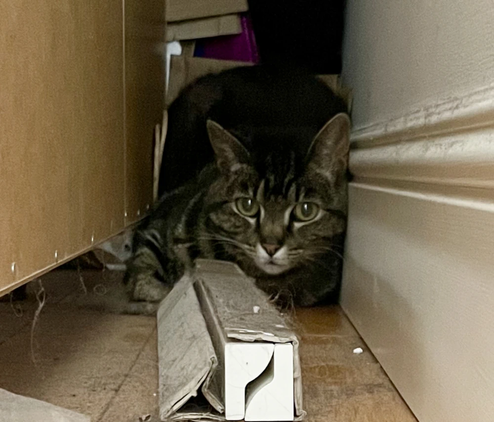
[[[348,0],[341,306],[420,422],[494,415],[494,3]]]

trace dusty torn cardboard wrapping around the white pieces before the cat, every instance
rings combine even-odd
[[[158,310],[161,419],[225,420],[224,338],[293,344],[295,421],[302,420],[298,338],[237,265],[206,259],[197,260]]]

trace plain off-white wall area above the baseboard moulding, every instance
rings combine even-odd
[[[343,80],[356,128],[494,81],[491,0],[348,0]]]

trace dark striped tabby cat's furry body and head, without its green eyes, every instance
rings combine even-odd
[[[219,82],[213,82],[221,85],[222,75],[218,78]],[[312,79],[307,81],[314,84]],[[206,82],[210,89],[210,79],[206,78]],[[205,84],[204,80],[179,97],[181,107],[173,109],[172,105],[170,124],[178,113],[199,113],[191,110],[198,102],[191,97],[201,84]],[[277,84],[269,85],[276,96],[273,86]],[[188,138],[176,137],[173,133],[178,127],[172,127],[172,136],[166,143],[176,146],[181,142],[185,154],[183,158],[177,156],[176,161],[184,160],[183,165],[188,165],[185,159],[192,159],[193,150],[186,148],[186,142],[192,138],[191,146],[200,139],[208,143],[210,158],[206,157],[206,165],[191,177],[183,176],[178,189],[165,193],[151,216],[136,230],[125,276],[132,299],[160,300],[199,256],[238,263],[260,288],[282,302],[311,305],[337,296],[346,227],[349,120],[339,113],[342,102],[327,87],[312,88],[322,90],[334,103],[332,108],[326,104],[326,125],[324,121],[320,123],[320,118],[315,122],[317,119],[311,116],[317,113],[308,110],[303,126],[295,122],[290,127],[296,118],[290,119],[292,106],[285,105],[287,121],[274,121],[271,126],[249,121],[248,108],[247,125],[230,125],[229,119],[221,116],[218,123],[203,121],[206,139],[199,129],[189,133]],[[286,90],[286,86],[280,83],[280,89]],[[256,101],[256,107],[261,107],[262,98]],[[268,110],[268,105],[264,106]],[[239,107],[238,101],[227,107],[225,116],[235,107]],[[217,108],[214,113],[202,113],[204,117],[221,115]],[[176,121],[180,122],[178,116]],[[187,132],[188,126],[183,122],[181,125]],[[165,156],[164,166],[172,159]],[[179,183],[175,180],[174,184]],[[239,198],[251,198],[258,207],[256,214],[243,212]],[[296,211],[303,204],[315,204],[314,209],[319,210],[310,221],[297,217]]]

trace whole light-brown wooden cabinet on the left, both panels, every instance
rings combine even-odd
[[[164,8],[0,0],[0,295],[151,205]]]

